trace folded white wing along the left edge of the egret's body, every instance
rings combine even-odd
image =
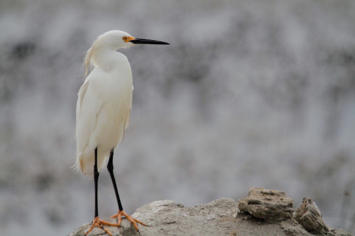
[[[95,96],[90,75],[79,90],[76,104],[76,145],[78,153],[89,145],[96,127],[97,114],[102,108],[102,100]],[[92,147],[92,149],[94,148]]]

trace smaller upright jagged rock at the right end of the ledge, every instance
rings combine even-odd
[[[321,212],[311,198],[304,197],[302,204],[296,209],[295,219],[308,231],[324,234],[329,231],[322,219]]]

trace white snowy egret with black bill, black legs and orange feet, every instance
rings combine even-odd
[[[111,233],[103,225],[120,226],[121,217],[126,217],[138,231],[141,221],[127,215],[121,205],[113,174],[113,154],[129,123],[132,107],[132,71],[119,48],[136,44],[168,44],[162,41],[134,38],[119,30],[108,31],[93,42],[84,58],[85,81],[78,93],[76,104],[76,163],[73,167],[86,175],[94,175],[95,215],[87,235],[94,227]],[[94,69],[87,76],[89,67]],[[97,207],[98,170],[109,158],[110,173],[118,203],[118,224],[99,219]],[[147,226],[147,225],[146,225]]]

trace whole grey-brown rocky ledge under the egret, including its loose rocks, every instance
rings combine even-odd
[[[230,198],[194,207],[184,207],[170,200],[151,202],[132,215],[150,226],[140,225],[139,233],[126,219],[122,219],[123,228],[106,228],[113,236],[354,236],[327,226],[310,198],[305,197],[296,210],[292,205],[293,200],[285,192],[251,188],[248,196],[239,199],[238,203]],[[117,219],[103,220],[117,223]],[[90,225],[80,226],[69,236],[83,236]],[[104,233],[94,228],[88,236]]]

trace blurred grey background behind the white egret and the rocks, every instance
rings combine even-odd
[[[355,232],[355,1],[1,0],[0,228],[68,235],[94,214],[75,162],[82,58],[119,29],[133,108],[114,157],[127,213],[237,201],[252,186],[317,203]],[[118,210],[106,169],[99,215]]]

